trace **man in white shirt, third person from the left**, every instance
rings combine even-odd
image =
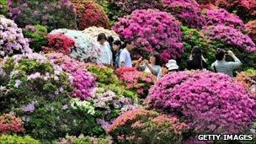
[[[132,67],[130,51],[134,48],[134,43],[131,40],[124,41],[124,50],[120,52],[120,67]]]

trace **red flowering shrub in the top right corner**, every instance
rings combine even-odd
[[[236,12],[244,21],[254,19],[256,16],[256,2],[254,0],[217,0],[216,5],[229,12]]]

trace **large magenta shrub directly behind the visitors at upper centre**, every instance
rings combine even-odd
[[[166,12],[156,9],[136,10],[120,18],[112,27],[120,39],[135,42],[136,53],[148,56],[160,53],[162,61],[176,59],[183,53],[179,22]]]

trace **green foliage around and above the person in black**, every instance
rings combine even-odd
[[[197,29],[189,29],[186,26],[182,26],[181,29],[183,33],[182,41],[184,44],[184,54],[177,61],[180,69],[184,70],[186,68],[186,61],[189,59],[194,46],[201,48],[207,66],[210,69],[211,63],[215,60],[215,51],[208,46],[208,41],[205,39],[204,35]]]

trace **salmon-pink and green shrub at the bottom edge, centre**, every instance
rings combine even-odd
[[[107,132],[116,143],[175,143],[185,127],[174,117],[133,109],[120,115]]]

